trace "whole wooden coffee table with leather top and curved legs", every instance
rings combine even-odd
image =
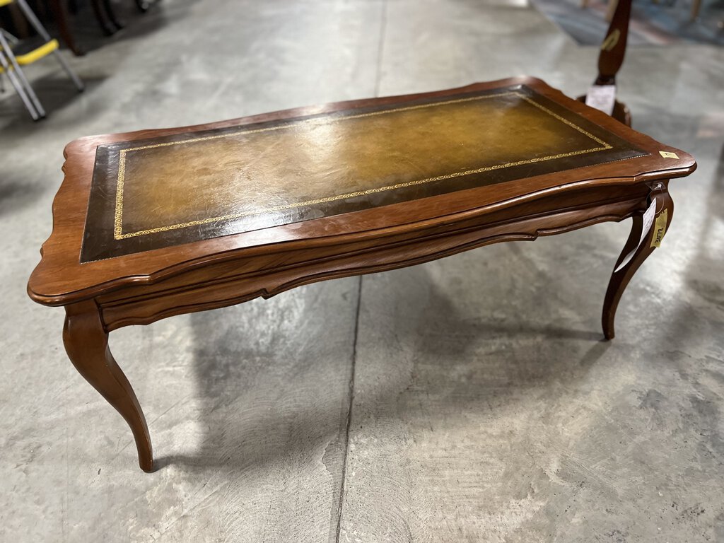
[[[611,338],[671,221],[668,180],[696,167],[525,77],[93,136],[65,156],[28,293],[65,306],[67,353],[130,425],[145,471],[151,440],[114,329],[633,217],[604,301]]]

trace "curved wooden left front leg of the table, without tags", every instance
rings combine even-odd
[[[75,369],[108,400],[131,427],[143,471],[153,471],[151,437],[146,417],[128,379],[113,359],[108,333],[96,304],[90,300],[66,307],[63,342]]]

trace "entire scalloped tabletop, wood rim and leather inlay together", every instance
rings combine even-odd
[[[266,273],[295,251],[413,240],[510,206],[536,214],[540,198],[581,190],[641,193],[696,168],[532,77],[88,136],[64,154],[28,282],[47,305],[222,261]]]

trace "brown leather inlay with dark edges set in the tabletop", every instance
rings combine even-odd
[[[644,154],[519,85],[113,143],[81,261]]]

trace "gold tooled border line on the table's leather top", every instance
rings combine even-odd
[[[359,119],[361,117],[372,117],[374,115],[394,113],[395,111],[410,111],[411,109],[445,106],[447,104],[459,104],[460,102],[468,102],[468,101],[473,101],[473,100],[484,100],[486,98],[497,98],[500,96],[508,96],[510,94],[514,94],[515,96],[518,96],[519,98],[523,98],[523,100],[529,102],[529,104],[533,104],[534,106],[541,109],[542,111],[545,111],[547,114],[551,115],[552,117],[555,117],[555,119],[558,119],[560,122],[563,122],[566,125],[573,127],[574,129],[578,130],[578,132],[581,132],[581,134],[588,136],[589,138],[594,140],[596,143],[598,143],[599,147],[594,147],[591,149],[582,149],[581,151],[571,151],[569,153],[560,153],[560,154],[550,155],[550,156],[541,156],[537,159],[519,160],[519,161],[515,161],[515,162],[508,162],[507,164],[497,164],[495,166],[488,166],[488,167],[477,168],[477,169],[469,169],[469,170],[466,170],[465,172],[454,172],[451,174],[438,175],[437,177],[428,177],[426,179],[421,179],[421,180],[416,180],[416,181],[397,183],[396,185],[387,185],[385,187],[371,188],[368,190],[360,190],[360,191],[354,192],[354,193],[325,196],[324,198],[316,198],[314,200],[308,200],[308,201],[304,201],[304,202],[290,203],[290,204],[287,204],[284,206],[271,206],[271,207],[261,209],[261,210],[256,210],[256,211],[246,211],[244,213],[232,213],[232,214],[227,214],[227,215],[209,217],[208,219],[198,219],[198,220],[190,221],[190,222],[172,224],[170,226],[149,228],[148,230],[139,230],[138,232],[123,233],[123,186],[124,186],[124,182],[125,182],[126,153],[130,153],[131,151],[140,151],[142,149],[151,149],[151,148],[156,148],[156,147],[180,145],[182,143],[193,143],[196,141],[214,140],[217,138],[227,138],[230,135],[237,135],[237,134],[254,134],[256,132],[271,132],[272,130],[285,130],[287,128],[292,128],[292,127],[296,127],[298,125],[309,124],[309,123],[317,123],[317,124],[324,125],[324,124],[329,124],[331,122],[341,122],[341,121],[344,121],[347,119]],[[156,234],[157,232],[167,232],[169,230],[177,230],[179,228],[198,226],[200,224],[209,224],[210,222],[227,221],[230,219],[240,219],[244,216],[269,213],[270,211],[283,211],[285,209],[295,209],[295,208],[304,207],[304,206],[313,206],[318,203],[327,203],[327,202],[333,202],[333,201],[337,201],[337,200],[344,200],[345,198],[355,198],[357,196],[365,196],[365,195],[369,195],[369,194],[382,193],[387,190],[397,190],[400,188],[412,187],[413,185],[424,185],[426,183],[430,183],[430,182],[434,182],[434,181],[452,179],[454,177],[462,177],[463,175],[479,174],[482,172],[492,172],[493,170],[496,170],[496,169],[521,166],[523,164],[533,164],[534,162],[544,162],[544,161],[555,160],[555,159],[563,159],[567,156],[576,156],[576,155],[582,155],[582,154],[586,154],[586,153],[596,153],[598,151],[605,151],[606,149],[610,149],[610,148],[612,148],[612,146],[610,146],[610,144],[606,143],[603,140],[600,140],[599,138],[597,138],[590,132],[586,132],[586,130],[584,130],[583,128],[581,128],[577,125],[574,125],[573,122],[569,121],[568,119],[564,119],[563,117],[560,117],[560,115],[555,114],[550,109],[547,109],[546,107],[542,106],[541,104],[538,104],[536,101],[532,100],[528,96],[515,92],[514,90],[510,90],[505,93],[488,94],[485,96],[473,96],[471,98],[458,98],[457,100],[433,102],[432,104],[421,104],[418,106],[406,106],[406,107],[400,107],[400,108],[396,108],[396,109],[384,109],[382,111],[372,111],[370,113],[349,115],[349,116],[345,116],[345,117],[332,117],[332,118],[324,118],[324,119],[306,119],[306,120],[303,120],[300,122],[293,122],[288,125],[279,125],[279,126],[274,126],[274,127],[258,128],[256,130],[241,130],[240,132],[232,132],[232,133],[227,132],[225,134],[206,136],[204,138],[192,138],[189,140],[169,141],[166,143],[154,143],[154,144],[148,145],[148,146],[121,149],[121,151],[120,151],[119,161],[118,161],[118,180],[117,180],[117,185],[116,185],[116,207],[115,207],[115,212],[114,212],[113,237],[115,240],[125,240],[128,237],[138,237],[138,236],[143,236],[143,235],[148,235],[148,234]]]

